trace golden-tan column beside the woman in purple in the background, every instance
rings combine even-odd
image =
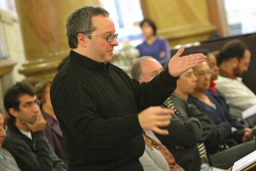
[[[206,0],[141,0],[144,17],[152,19],[158,35],[170,46],[207,39],[216,27],[210,22]]]

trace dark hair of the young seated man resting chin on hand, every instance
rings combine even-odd
[[[10,108],[19,111],[19,104],[21,103],[19,102],[19,97],[23,94],[34,96],[36,95],[36,92],[31,84],[26,82],[17,82],[6,90],[6,93],[4,93],[4,108],[8,113]],[[13,116],[10,114],[10,117]]]

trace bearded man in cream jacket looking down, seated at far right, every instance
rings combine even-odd
[[[247,45],[240,40],[233,40],[224,44],[219,54],[220,76],[216,88],[229,103],[230,113],[242,119],[243,110],[256,104],[256,96],[242,82],[240,76],[248,70],[250,51]]]

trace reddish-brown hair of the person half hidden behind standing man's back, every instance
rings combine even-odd
[[[42,105],[46,100],[44,96],[46,94],[46,87],[51,86],[51,84],[52,84],[52,81],[50,79],[46,79],[35,86],[37,99],[40,100],[41,102],[40,107],[42,107]]]

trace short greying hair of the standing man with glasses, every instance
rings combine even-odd
[[[102,15],[108,17],[109,13],[106,9],[94,6],[85,6],[76,9],[67,20],[67,37],[69,47],[77,48],[79,33],[91,33],[96,30],[96,26],[92,25],[92,17]]]

